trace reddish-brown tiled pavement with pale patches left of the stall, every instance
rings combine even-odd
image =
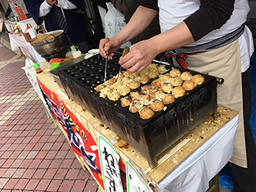
[[[41,100],[10,50],[0,45],[0,191],[100,191],[48,119]],[[8,48],[9,47],[9,48]]]

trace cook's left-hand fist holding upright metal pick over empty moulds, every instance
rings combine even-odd
[[[103,58],[106,58],[106,51],[108,51],[108,59],[113,59],[114,51],[118,50],[120,46],[118,38],[110,38],[110,42],[107,43],[105,42],[105,38],[102,38],[98,46],[99,54],[101,54]]]

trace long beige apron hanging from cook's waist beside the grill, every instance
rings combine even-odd
[[[174,65],[178,63],[174,58]],[[234,153],[230,162],[244,168],[246,161],[246,142],[244,135],[242,113],[242,72],[239,41],[236,40],[227,46],[209,50],[201,54],[192,54],[186,58],[188,70],[198,71],[202,74],[224,78],[224,83],[217,86],[218,104],[239,114],[238,129],[234,142]]]

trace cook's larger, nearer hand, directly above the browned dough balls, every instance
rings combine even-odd
[[[141,72],[150,65],[157,54],[149,40],[137,42],[130,46],[130,51],[126,56],[120,58],[119,64],[123,69],[128,69],[132,73]]]

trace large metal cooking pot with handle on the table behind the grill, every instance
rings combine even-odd
[[[34,50],[41,54],[42,56],[58,53],[66,49],[66,38],[64,30],[54,30],[42,35],[40,39],[32,39],[30,41],[31,46],[34,47]]]

